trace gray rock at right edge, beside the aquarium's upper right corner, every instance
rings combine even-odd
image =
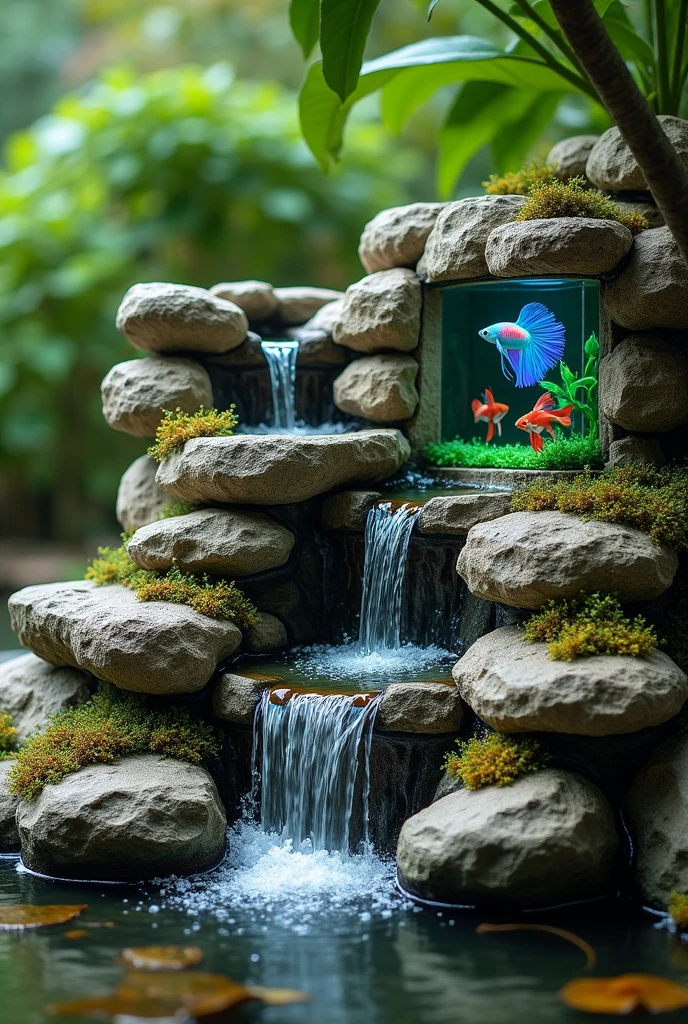
[[[631,258],[604,290],[612,319],[631,331],[688,328],[688,267],[668,227],[636,236]]]

